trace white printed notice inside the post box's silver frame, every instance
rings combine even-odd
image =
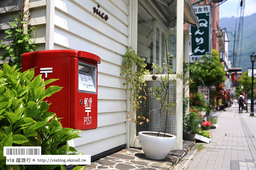
[[[96,93],[96,89],[90,75],[78,74],[78,90]]]

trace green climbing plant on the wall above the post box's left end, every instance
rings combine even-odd
[[[8,34],[4,39],[12,39],[10,44],[5,44],[1,40],[0,48],[2,48],[5,53],[2,55],[1,60],[7,59],[10,66],[17,65],[17,68],[21,68],[21,56],[23,53],[28,53],[35,51],[35,44],[31,40],[31,35],[23,34],[22,24],[28,24],[23,20],[22,13],[19,14],[18,18],[16,15],[13,16],[13,22],[8,22],[12,29],[5,30]],[[35,27],[28,27],[28,32],[34,32]]]

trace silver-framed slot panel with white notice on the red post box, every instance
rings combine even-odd
[[[78,61],[78,92],[97,93],[97,66]]]

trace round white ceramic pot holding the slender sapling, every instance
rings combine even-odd
[[[163,160],[173,148],[176,136],[167,133],[166,137],[162,137],[164,133],[160,133],[160,135],[157,136],[156,132],[147,131],[138,133],[140,145],[147,158]]]

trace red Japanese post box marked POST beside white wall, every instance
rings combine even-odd
[[[59,79],[50,85],[63,87],[47,97],[50,112],[63,117],[63,127],[97,128],[97,91],[100,57],[78,50],[45,50],[22,54],[22,71],[35,68],[35,76]]]

